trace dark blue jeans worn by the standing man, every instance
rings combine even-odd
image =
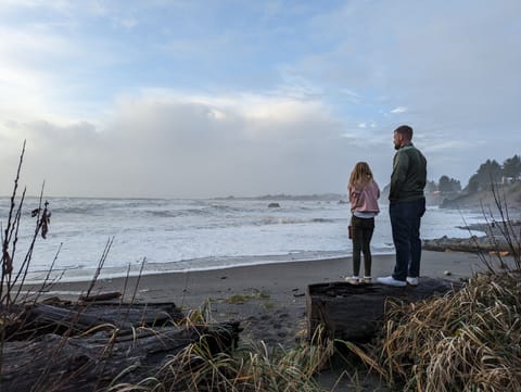
[[[396,250],[396,265],[393,271],[393,278],[396,280],[420,276],[420,222],[424,213],[425,199],[392,203],[389,206]]]

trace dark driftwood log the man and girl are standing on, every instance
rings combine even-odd
[[[330,339],[367,342],[381,330],[387,300],[416,302],[444,293],[460,283],[421,278],[417,287],[347,282],[309,284],[306,291],[307,337],[312,340],[322,326]]]

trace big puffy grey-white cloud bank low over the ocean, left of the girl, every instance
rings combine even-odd
[[[113,113],[104,129],[9,123],[0,135],[11,148],[27,139],[24,172],[33,189],[46,179],[48,192],[67,195],[342,191],[350,151],[361,152],[317,101],[147,91],[120,98]],[[3,157],[3,175],[15,156]]]

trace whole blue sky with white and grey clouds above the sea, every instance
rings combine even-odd
[[[519,0],[0,0],[0,194],[381,188],[521,153]]]

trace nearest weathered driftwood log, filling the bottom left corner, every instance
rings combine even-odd
[[[154,376],[191,343],[204,340],[212,353],[229,350],[236,326],[139,329],[134,334],[99,332],[67,338],[48,333],[30,341],[7,342],[0,391],[92,392],[115,382],[136,383]]]

